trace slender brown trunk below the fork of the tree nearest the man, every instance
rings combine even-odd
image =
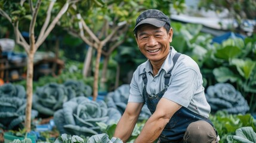
[[[96,101],[98,95],[98,71],[100,70],[100,57],[103,45],[100,42],[97,48],[97,57],[95,62],[95,73],[94,73],[94,83],[93,83],[93,100]]]

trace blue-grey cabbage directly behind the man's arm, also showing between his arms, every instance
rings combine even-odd
[[[116,108],[120,111],[121,114],[124,114],[128,103],[129,89],[130,86],[128,84],[124,84],[119,86],[115,91],[109,92],[105,98],[107,107]],[[150,116],[150,110],[145,104],[141,110],[139,120],[147,120]]]

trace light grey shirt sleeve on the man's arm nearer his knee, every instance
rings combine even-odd
[[[176,71],[178,72],[173,74],[171,85],[163,97],[188,107],[198,85],[198,74],[195,70],[184,67],[177,67]]]

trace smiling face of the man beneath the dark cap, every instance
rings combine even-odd
[[[164,61],[172,42],[172,29],[167,33],[164,27],[145,24],[138,29],[136,41],[142,54],[151,62]]]

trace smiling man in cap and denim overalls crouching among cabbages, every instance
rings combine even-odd
[[[152,116],[135,142],[218,142],[198,64],[169,46],[169,18],[159,10],[146,10],[138,16],[134,34],[148,60],[134,72],[127,108],[114,136],[129,139],[146,103]]]

